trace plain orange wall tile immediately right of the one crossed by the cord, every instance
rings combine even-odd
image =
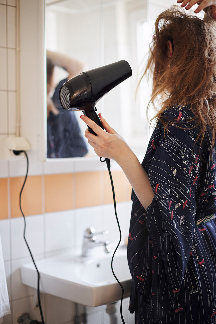
[[[73,180],[73,173],[48,174],[44,176],[45,213],[74,208]]]

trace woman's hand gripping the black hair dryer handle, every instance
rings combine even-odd
[[[94,148],[97,156],[113,159],[117,163],[122,159],[127,159],[130,147],[124,139],[109,126],[108,122],[101,116],[101,113],[99,113],[98,116],[106,132],[87,116],[80,116],[80,118],[97,134],[96,136],[90,133],[88,128],[86,128],[85,137],[88,139],[88,143]]]

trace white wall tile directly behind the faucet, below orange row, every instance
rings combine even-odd
[[[76,214],[76,234],[75,242],[76,246],[81,246],[84,237],[84,231],[88,227],[94,227],[96,232],[107,230],[102,226],[101,217],[103,214],[103,205],[78,208],[75,210]],[[103,240],[108,240],[108,235],[105,237],[98,236]]]

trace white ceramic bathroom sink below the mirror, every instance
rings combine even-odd
[[[121,288],[111,271],[111,258],[117,244],[110,244],[106,254],[95,248],[95,257],[81,257],[81,250],[68,251],[36,260],[40,272],[40,291],[73,302],[96,307],[121,299]],[[127,248],[120,245],[113,260],[113,270],[124,288],[124,298],[130,295],[131,274]],[[37,272],[32,262],[22,265],[23,284],[37,288]]]

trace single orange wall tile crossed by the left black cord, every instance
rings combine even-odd
[[[21,217],[19,192],[25,177],[10,178],[11,218]],[[25,216],[42,214],[42,176],[28,176],[22,192],[21,207]]]

